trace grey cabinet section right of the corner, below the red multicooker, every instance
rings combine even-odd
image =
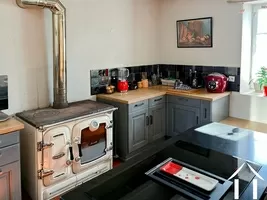
[[[167,96],[167,135],[175,136],[210,122],[220,122],[229,116],[229,96],[215,101]]]

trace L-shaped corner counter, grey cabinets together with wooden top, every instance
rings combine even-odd
[[[114,112],[114,154],[128,160],[164,136],[176,136],[202,123],[229,117],[229,95],[152,86],[99,94],[97,101],[118,108]]]

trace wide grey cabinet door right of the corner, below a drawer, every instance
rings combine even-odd
[[[169,103],[168,135],[175,136],[198,125],[200,108]]]

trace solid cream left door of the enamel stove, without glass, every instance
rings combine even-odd
[[[65,179],[70,173],[69,165],[70,129],[58,127],[43,134],[43,183],[49,186]]]

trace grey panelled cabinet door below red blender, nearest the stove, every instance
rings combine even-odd
[[[128,126],[128,147],[131,153],[148,143],[148,109],[130,113]]]

